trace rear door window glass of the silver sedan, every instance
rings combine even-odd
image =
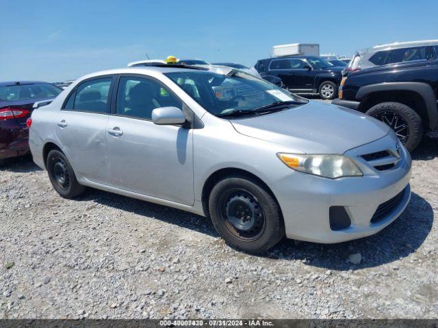
[[[73,111],[90,111],[91,113],[109,113],[110,104],[108,96],[110,94],[111,77],[93,79],[85,81],[76,89],[75,101],[71,103],[73,96],[70,95],[64,109],[73,107]],[[73,94],[72,94],[73,95]]]

